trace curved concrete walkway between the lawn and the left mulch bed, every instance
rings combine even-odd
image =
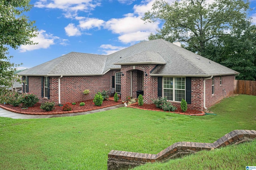
[[[112,110],[112,109],[117,109],[119,107],[124,107],[124,105],[116,105],[116,106],[111,106],[111,107],[88,111],[88,112],[66,113],[66,114],[60,114],[60,115],[23,115],[23,114],[19,114],[19,113],[13,113],[10,111],[6,111],[0,107],[0,117],[9,117],[12,119],[40,119],[40,118],[52,118],[52,117],[67,117],[67,116],[78,116],[78,115],[86,115],[86,114],[90,114],[90,113],[108,111],[108,110]]]

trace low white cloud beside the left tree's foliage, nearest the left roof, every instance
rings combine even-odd
[[[35,45],[20,45],[19,51],[26,52],[32,51],[40,48],[48,48],[50,45],[54,45],[54,40],[60,39],[59,37],[53,36],[52,34],[47,34],[45,30],[38,31],[38,36],[35,38],[31,38],[33,42],[37,42]]]

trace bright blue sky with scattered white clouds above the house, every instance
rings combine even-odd
[[[173,0],[168,0],[171,2]],[[208,0],[213,1],[213,0]],[[10,49],[18,69],[31,68],[72,51],[110,54],[146,40],[160,29],[160,22],[140,19],[154,0],[31,0],[34,7],[26,15],[35,20],[38,45]],[[256,0],[251,0],[250,16],[256,24]]]

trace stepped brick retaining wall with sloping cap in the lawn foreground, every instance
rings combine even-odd
[[[213,143],[176,142],[158,154],[144,154],[111,150],[108,153],[108,170],[134,168],[146,162],[164,162],[169,159],[180,158],[200,150],[212,150],[230,144],[239,144],[256,139],[256,130],[233,130]]]

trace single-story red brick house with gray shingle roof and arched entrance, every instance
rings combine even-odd
[[[204,110],[233,94],[238,72],[162,39],[140,42],[110,55],[71,52],[18,73],[23,93],[40,102],[93,99],[112,87],[126,96],[144,94],[144,103],[166,96],[176,106]],[[90,89],[89,95],[83,91]]]

